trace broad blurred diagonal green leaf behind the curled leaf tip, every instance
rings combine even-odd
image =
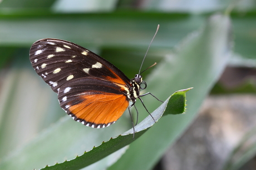
[[[194,87],[187,97],[187,114],[165,116],[131,143],[125,154],[108,169],[151,169],[159,161],[194,120],[205,96],[225,68],[231,55],[232,39],[229,36],[229,17],[213,15],[203,28],[190,34],[174,53],[166,55],[157,64],[157,69],[147,77],[147,84],[150,85],[147,91],[162,99],[168,91]],[[149,97],[144,98],[144,103],[147,104],[149,100]],[[155,105],[146,106],[150,110]]]

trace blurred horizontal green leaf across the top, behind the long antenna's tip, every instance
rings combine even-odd
[[[160,30],[151,47],[170,48],[184,35],[198,29],[203,22],[202,16],[189,17],[188,14],[136,11],[104,14],[56,14],[42,11],[0,13],[0,45],[29,47],[38,39],[58,38],[80,44],[88,49],[145,48],[145,54],[157,24],[160,24]]]

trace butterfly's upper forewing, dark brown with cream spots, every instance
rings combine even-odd
[[[42,39],[30,50],[30,61],[52,90],[85,76],[129,85],[130,80],[114,65],[80,45],[58,39]]]

